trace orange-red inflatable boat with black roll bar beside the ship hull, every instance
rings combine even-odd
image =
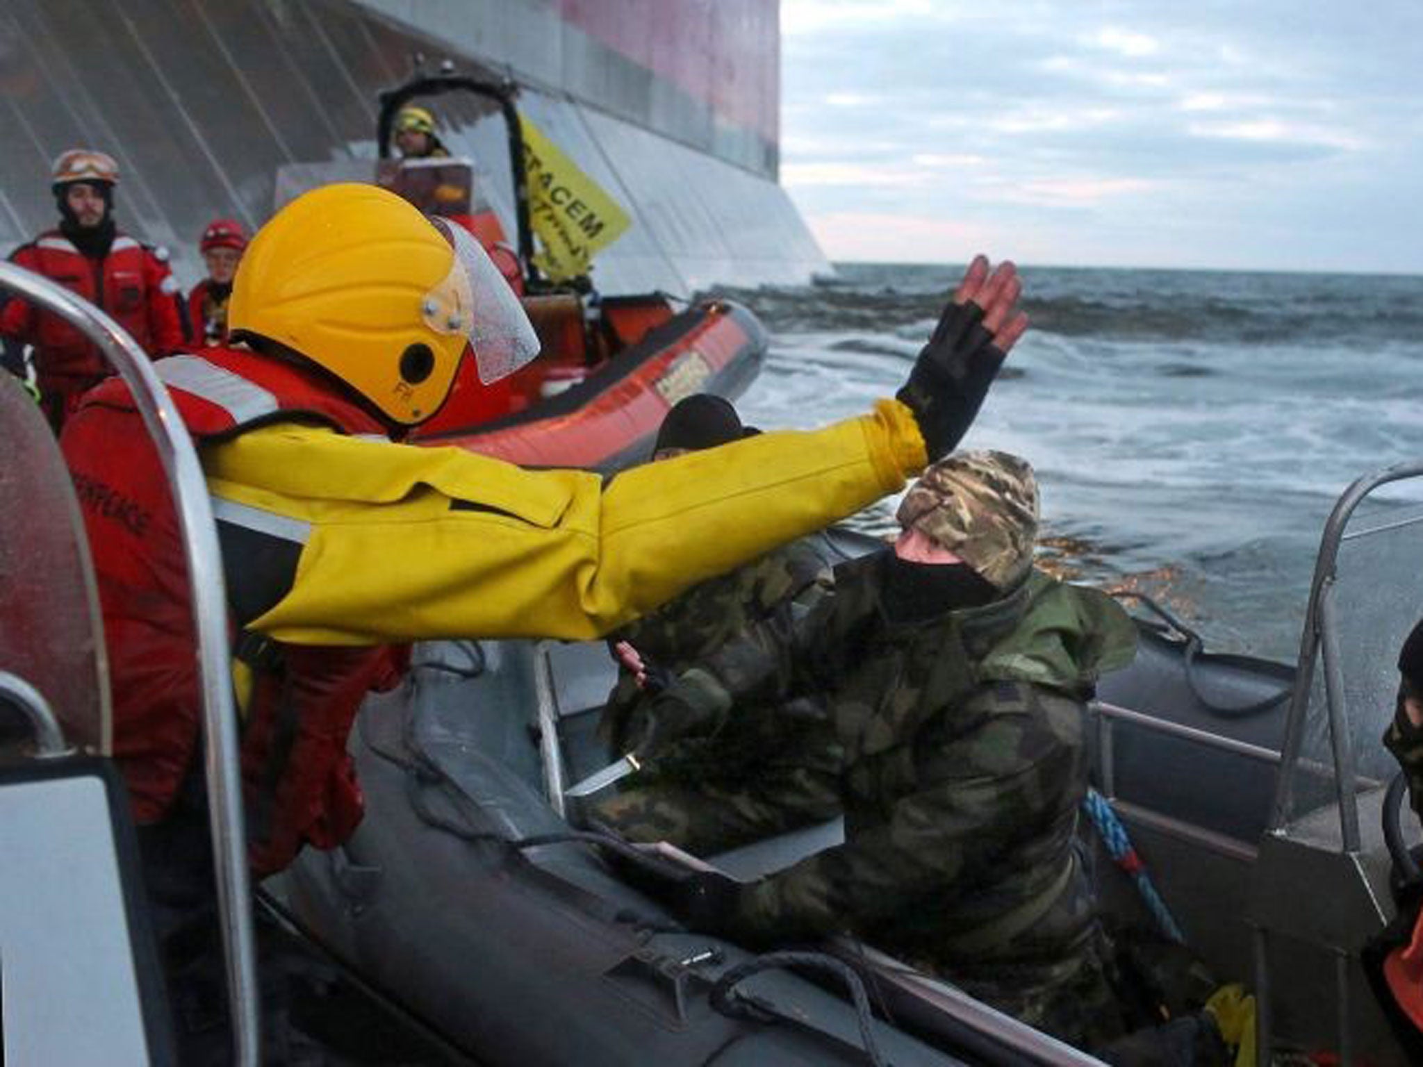
[[[501,125],[507,189],[481,182],[487,169],[468,158],[391,158],[400,108],[441,95],[472,100],[477,122]],[[689,303],[660,292],[603,296],[586,276],[546,277],[536,266],[517,95],[512,83],[453,71],[417,74],[380,94],[379,159],[289,164],[277,172],[276,206],[332,181],[376,182],[468,229],[519,294],[541,351],[492,386],[481,384],[467,360],[444,407],[408,440],[529,467],[610,471],[647,457],[663,415],[683,397],[740,396],[761,370],[768,337],[748,309],[730,300]],[[505,205],[502,213],[497,202]],[[505,215],[512,215],[512,226]]]

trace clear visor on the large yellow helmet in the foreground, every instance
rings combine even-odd
[[[488,386],[538,356],[538,334],[480,242],[445,219],[430,222],[454,246],[454,262],[444,280],[425,294],[421,304],[425,326],[435,333],[464,334],[480,381]]]

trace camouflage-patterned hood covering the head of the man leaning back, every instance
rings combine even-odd
[[[1012,589],[1033,565],[1037,479],[1026,460],[1007,452],[953,452],[925,469],[896,518],[998,589]]]

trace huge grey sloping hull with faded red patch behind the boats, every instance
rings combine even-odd
[[[645,10],[646,9],[646,10]],[[165,246],[184,286],[213,218],[260,225],[277,172],[369,181],[376,98],[448,58],[518,107],[629,215],[595,258],[602,293],[801,283],[828,263],[778,166],[778,4],[672,0],[13,0],[0,13],[0,249],[54,225],[50,161],[111,152],[120,225]],[[451,152],[488,175],[514,232],[502,131],[435,102]]]

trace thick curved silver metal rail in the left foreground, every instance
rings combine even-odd
[[[196,659],[202,689],[203,758],[216,866],[218,906],[228,965],[228,1002],[233,1051],[239,1067],[256,1067],[256,950],[248,883],[246,835],[242,824],[242,777],[238,763],[236,713],[228,649],[228,605],[222,580],[218,529],[198,452],[152,363],[122,327],[68,289],[14,263],[0,262],[0,289],[51,312],[98,346],[134,394],[164,472],[172,487],[188,563]]]

